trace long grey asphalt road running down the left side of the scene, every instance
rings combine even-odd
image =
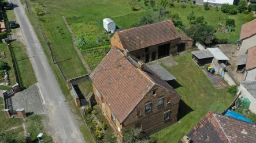
[[[46,113],[49,115],[48,125],[54,141],[62,142],[85,142],[80,133],[79,126],[76,124],[73,114],[65,102],[65,97],[51,71],[50,65],[44,55],[38,37],[32,28],[23,5],[20,0],[12,0],[17,22],[20,24],[21,32],[28,49],[28,55],[33,65],[36,78],[38,79],[41,90],[43,104]]]

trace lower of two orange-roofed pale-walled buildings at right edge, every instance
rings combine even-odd
[[[256,81],[256,46],[248,49],[244,80]]]

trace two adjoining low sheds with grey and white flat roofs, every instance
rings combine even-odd
[[[210,63],[218,63],[226,65],[228,62],[228,57],[224,55],[218,48],[207,48],[200,51],[191,52],[192,59],[198,65],[210,64]]]

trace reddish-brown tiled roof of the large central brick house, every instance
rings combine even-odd
[[[140,60],[136,57],[125,56],[123,51],[113,47],[90,75],[98,92],[120,123],[128,117],[154,85],[179,96],[146,64],[144,70],[139,69],[138,61]]]

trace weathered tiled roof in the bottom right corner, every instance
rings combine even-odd
[[[179,143],[255,143],[256,125],[211,111]]]

